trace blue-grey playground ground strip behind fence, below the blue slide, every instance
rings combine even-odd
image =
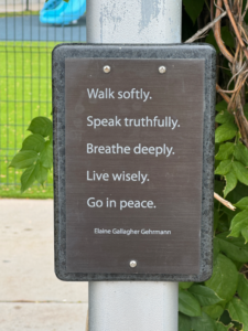
[[[0,41],[85,42],[86,19],[77,24],[58,26],[40,23],[39,15],[0,18]]]

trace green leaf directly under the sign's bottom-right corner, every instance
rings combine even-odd
[[[188,292],[191,292],[200,302],[201,306],[211,306],[218,303],[222,299],[213,291],[213,289],[203,285],[193,285]]]

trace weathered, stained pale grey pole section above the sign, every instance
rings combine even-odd
[[[180,43],[181,0],[90,0],[87,41],[90,43]]]

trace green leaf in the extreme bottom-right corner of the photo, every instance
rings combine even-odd
[[[233,298],[228,303],[227,309],[231,319],[241,323],[244,331],[248,331],[248,306],[238,298]]]

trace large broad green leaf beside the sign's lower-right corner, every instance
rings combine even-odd
[[[237,289],[238,271],[233,261],[219,254],[214,263],[213,276],[205,285],[213,289],[217,296],[229,301]]]

